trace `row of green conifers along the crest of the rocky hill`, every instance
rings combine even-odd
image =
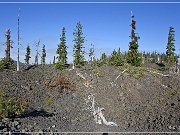
[[[102,53],[100,59],[95,58],[94,54],[94,47],[91,47],[89,50],[89,57],[90,63],[96,64],[97,66],[101,66],[103,64],[110,64],[114,66],[122,66],[125,63],[130,64],[131,66],[141,66],[144,63],[155,63],[155,62],[164,62],[167,63],[169,66],[173,66],[176,61],[175,57],[175,30],[173,27],[169,28],[168,34],[168,43],[166,47],[166,53],[160,54],[157,52],[139,52],[138,47],[138,40],[140,37],[136,33],[136,21],[134,15],[131,16],[131,35],[130,35],[130,42],[129,42],[129,50],[127,52],[122,53],[120,48],[118,50],[114,50],[110,56],[107,56],[105,53]],[[73,67],[80,68],[84,66],[87,61],[84,57],[85,52],[84,43],[85,37],[83,33],[83,26],[80,22],[77,23],[76,29],[73,32],[74,35],[74,47],[73,47]],[[1,60],[1,67],[4,66],[5,68],[9,68],[12,64],[12,60],[10,58],[10,30],[6,32],[6,56]],[[39,41],[40,42],[40,41]],[[36,49],[36,56],[35,56],[35,64],[38,64],[38,46]],[[54,56],[53,64],[57,69],[63,70],[66,69],[69,64],[67,62],[68,59],[68,46],[66,45],[66,29],[65,27],[62,28],[62,32],[60,35],[60,43],[57,46],[56,54],[57,57]],[[25,54],[25,64],[29,65],[29,61],[31,58],[31,49],[28,45],[26,48]],[[161,60],[159,60],[161,59]],[[41,64],[46,64],[46,48],[43,45],[42,54],[41,54]],[[8,67],[9,66],[9,67]]]

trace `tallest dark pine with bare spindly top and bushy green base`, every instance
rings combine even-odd
[[[138,39],[139,36],[136,36],[136,21],[134,20],[134,15],[132,15],[132,23],[131,23],[131,42],[129,43],[129,51],[127,54],[127,63],[132,66],[140,66],[142,63],[141,56],[138,52]]]

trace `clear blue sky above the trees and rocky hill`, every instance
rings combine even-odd
[[[15,2],[8,0],[9,2]],[[8,2],[7,0],[4,2]],[[16,2],[22,2],[17,0]],[[35,0],[31,0],[35,1]],[[53,0],[54,2],[58,0]],[[63,0],[65,1],[65,0]],[[83,0],[78,0],[78,2]],[[120,0],[113,0],[120,2]],[[139,2],[147,2],[138,0]],[[155,2],[151,0],[150,2]],[[174,0],[177,1],[178,0]],[[17,16],[20,8],[20,61],[24,62],[26,47],[31,48],[30,62],[34,62],[35,45],[40,40],[39,53],[46,46],[46,63],[53,61],[60,42],[62,27],[66,28],[68,61],[72,61],[73,32],[78,21],[83,25],[86,38],[85,51],[91,44],[95,47],[96,57],[114,49],[128,51],[131,34],[131,11],[136,20],[136,33],[140,36],[139,51],[165,52],[169,27],[175,29],[176,53],[180,54],[180,3],[2,3],[0,0],[0,57],[5,52],[5,31],[11,30],[11,56],[17,60]],[[27,2],[27,1],[25,1]],[[36,1],[37,2],[37,1]],[[47,2],[47,0],[39,0]],[[58,1],[60,2],[60,1]],[[62,1],[61,1],[62,2]],[[65,1],[67,2],[67,1]],[[77,2],[69,0],[69,2]],[[89,0],[89,2],[97,2]],[[99,0],[99,2],[111,2]],[[121,1],[122,2],[122,1]],[[126,2],[137,2],[128,0]],[[168,2],[168,0],[159,0]],[[172,2],[172,1],[171,1]],[[41,57],[41,56],[40,56]],[[39,57],[39,62],[40,62]],[[88,55],[86,55],[88,59]]]

